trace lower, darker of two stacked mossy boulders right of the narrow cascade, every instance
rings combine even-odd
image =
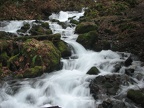
[[[90,31],[88,33],[80,34],[77,42],[82,44],[85,48],[92,49],[94,44],[98,41],[98,33]]]

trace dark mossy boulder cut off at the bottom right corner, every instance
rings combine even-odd
[[[144,107],[144,90],[129,90],[127,92],[127,97],[137,104]]]

